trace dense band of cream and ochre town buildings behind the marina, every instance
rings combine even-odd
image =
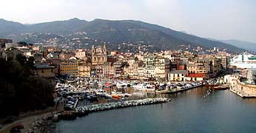
[[[42,78],[73,76],[138,81],[203,81],[225,72],[233,53],[212,47],[161,52],[118,52],[109,44],[92,45],[91,49],[61,50],[59,47],[13,43],[1,39],[1,58],[21,54],[35,59],[35,74]],[[150,46],[149,46],[150,47]],[[206,54],[207,53],[207,54]]]

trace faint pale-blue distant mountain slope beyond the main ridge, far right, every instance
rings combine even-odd
[[[220,41],[223,42],[225,44],[231,44],[235,47],[244,49],[244,50],[248,50],[248,51],[253,51],[256,52],[256,43],[252,43],[249,41],[239,41],[239,40],[217,40],[217,39],[213,39],[213,38],[209,38],[210,40],[215,40],[215,41]]]

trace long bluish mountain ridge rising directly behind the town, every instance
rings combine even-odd
[[[8,25],[8,27],[2,26]],[[220,47],[232,52],[243,52],[242,49],[219,41],[212,41],[178,32],[156,24],[148,24],[143,21],[121,20],[110,21],[95,19],[84,21],[73,18],[67,21],[52,21],[40,24],[24,25],[12,21],[0,21],[0,37],[11,33],[53,33],[56,35],[68,35],[75,32],[86,32],[89,37],[112,43],[144,41],[161,50],[174,50],[182,45],[191,47],[213,48]]]

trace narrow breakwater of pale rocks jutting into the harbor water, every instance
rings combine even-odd
[[[141,100],[126,100],[126,101],[120,101],[115,103],[101,103],[101,104],[92,104],[88,106],[79,106],[75,108],[75,112],[78,113],[78,115],[86,115],[89,112],[98,112],[98,111],[104,111],[109,109],[118,109],[118,108],[124,108],[129,106],[143,106],[143,105],[149,105],[149,104],[157,104],[157,103],[166,103],[171,101],[169,98],[146,98]]]

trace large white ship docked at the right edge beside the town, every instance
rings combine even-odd
[[[240,69],[256,69],[256,55],[246,53],[236,55],[231,59],[230,66]]]

